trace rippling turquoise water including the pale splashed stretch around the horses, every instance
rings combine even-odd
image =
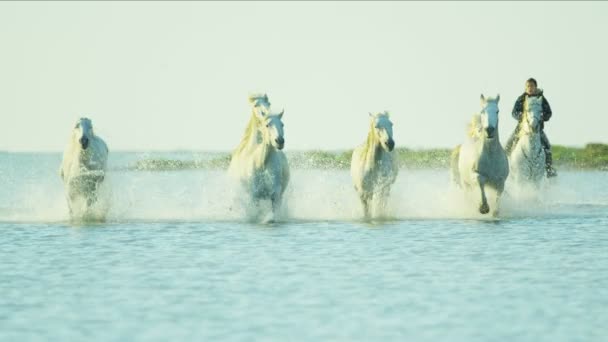
[[[606,172],[562,171],[494,220],[446,170],[402,170],[393,219],[365,223],[347,171],[294,170],[261,225],[222,171],[125,167],[149,156],[112,155],[108,222],[73,224],[59,154],[0,154],[0,340],[608,336]]]

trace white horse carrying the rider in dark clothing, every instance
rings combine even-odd
[[[545,178],[545,150],[541,143],[542,96],[526,97],[518,141],[509,155],[511,179],[516,185],[538,188]]]

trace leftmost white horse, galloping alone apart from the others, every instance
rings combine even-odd
[[[105,218],[106,208],[94,208],[94,205],[107,160],[106,143],[94,134],[91,120],[80,118],[72,130],[60,169],[72,219]]]

